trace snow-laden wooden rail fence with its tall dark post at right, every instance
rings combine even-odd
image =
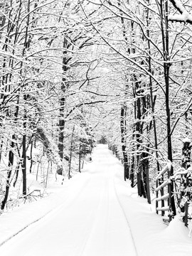
[[[155,189],[156,213],[159,214],[161,211],[163,219],[170,222],[176,215],[175,203],[177,203],[178,213],[183,218],[186,227],[188,220],[192,220],[191,148],[191,139],[183,139],[181,168],[174,173],[169,161],[156,176]],[[159,206],[160,203],[161,206]]]

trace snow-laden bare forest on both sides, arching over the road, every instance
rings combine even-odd
[[[192,1],[0,1],[1,212],[97,143],[171,221],[191,218]],[[160,193],[160,197],[159,197]],[[167,199],[167,205],[164,200]],[[176,210],[178,209],[178,210]]]

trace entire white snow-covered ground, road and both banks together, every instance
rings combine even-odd
[[[169,227],[123,181],[122,164],[98,145],[82,174],[39,201],[0,216],[2,256],[190,256],[192,238]]]

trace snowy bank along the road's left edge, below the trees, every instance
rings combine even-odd
[[[84,174],[83,177],[77,174],[71,180],[66,179],[63,185],[55,184],[50,186],[46,197],[2,213],[0,215],[0,246],[29,225],[36,223],[54,210],[58,210],[68,200],[68,194],[73,190],[74,185],[76,191],[74,198],[78,196],[82,183],[86,183],[86,176],[87,174]],[[80,182],[75,182],[74,184],[77,179]]]

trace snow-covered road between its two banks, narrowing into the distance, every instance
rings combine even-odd
[[[114,187],[117,159],[102,146],[68,197],[1,247],[1,255],[137,255]]]

